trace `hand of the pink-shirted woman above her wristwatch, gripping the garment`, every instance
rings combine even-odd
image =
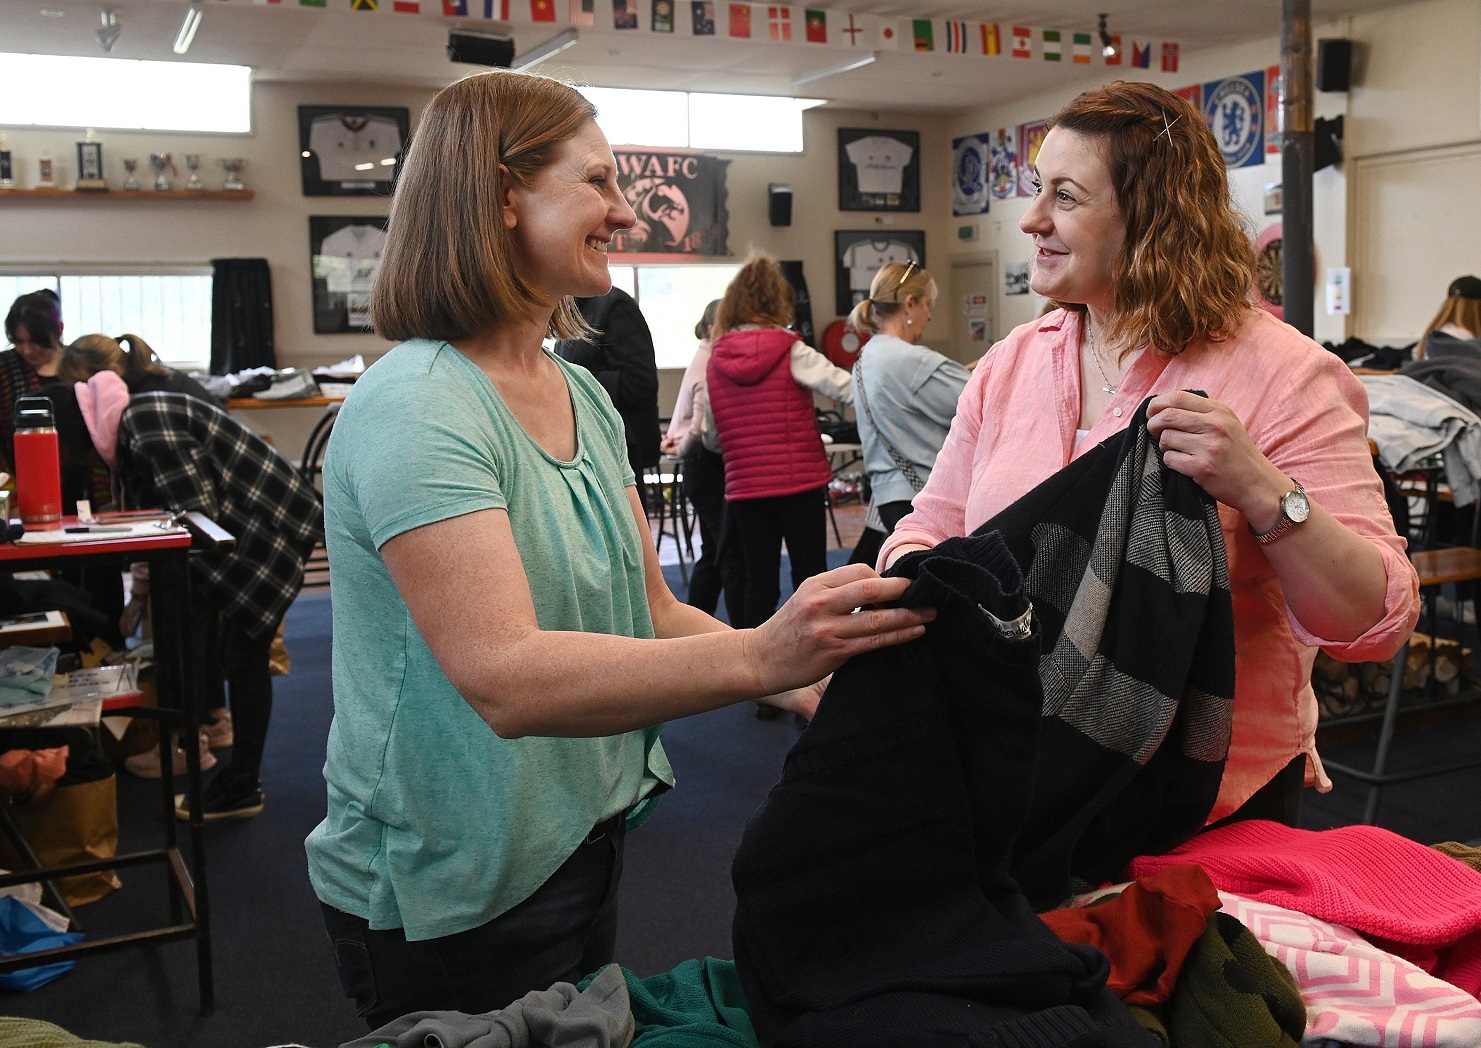
[[[1210,496],[1259,528],[1274,524],[1277,500],[1290,481],[1254,446],[1226,404],[1186,391],[1161,394],[1146,409],[1146,431],[1169,469],[1189,477]],[[1271,517],[1271,520],[1254,520]]]

